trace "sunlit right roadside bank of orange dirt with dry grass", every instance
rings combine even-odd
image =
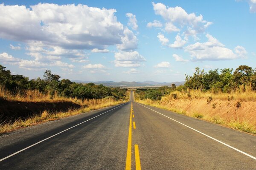
[[[174,91],[161,100],[137,99],[136,102],[256,134],[255,95],[188,95]]]

